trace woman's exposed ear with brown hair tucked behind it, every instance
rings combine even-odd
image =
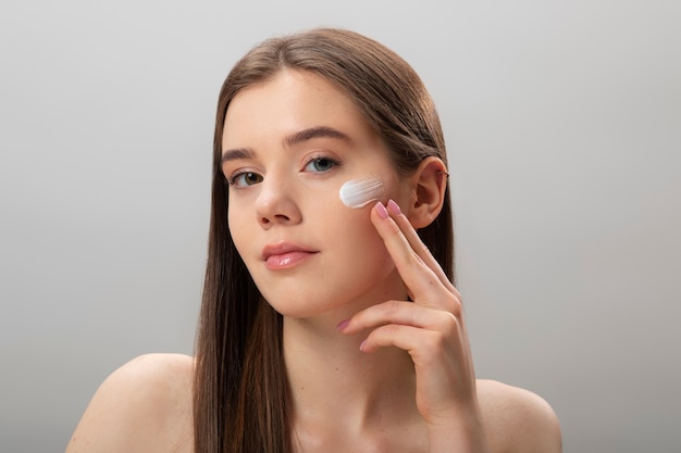
[[[447,167],[438,158],[424,159],[411,177],[413,200],[408,218],[414,228],[429,226],[442,211],[447,189]]]

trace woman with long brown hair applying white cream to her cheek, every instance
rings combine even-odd
[[[559,452],[544,400],[475,379],[446,161],[423,84],[382,45],[253,48],[219,99],[196,357],[116,370],[67,451]],[[367,178],[377,200],[346,206]]]

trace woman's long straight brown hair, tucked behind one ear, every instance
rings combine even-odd
[[[400,175],[412,174],[426,156],[447,161],[439,119],[421,79],[370,38],[315,28],[268,39],[236,63],[220,91],[215,119],[209,251],[196,343],[196,453],[292,451],[282,316],[263,300],[234,247],[220,165],[231,100],[283,68],[315,73],[344,90],[387,144]],[[454,280],[449,188],[442,212],[419,235]]]

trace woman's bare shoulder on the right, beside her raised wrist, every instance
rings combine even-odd
[[[478,401],[495,453],[559,453],[560,425],[540,395],[494,380],[478,380]]]

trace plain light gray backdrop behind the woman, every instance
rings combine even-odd
[[[250,46],[336,25],[442,115],[480,377],[566,452],[681,445],[681,3],[3,1],[0,451],[63,451],[98,385],[191,353],[218,90]]]

